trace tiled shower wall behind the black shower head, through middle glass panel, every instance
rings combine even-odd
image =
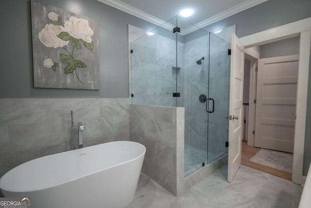
[[[179,107],[185,107],[185,144],[207,151],[207,113],[199,95],[208,95],[208,33],[184,43],[183,69],[177,79],[181,96]],[[205,57],[201,65],[196,61]],[[204,161],[202,161],[204,162]]]

